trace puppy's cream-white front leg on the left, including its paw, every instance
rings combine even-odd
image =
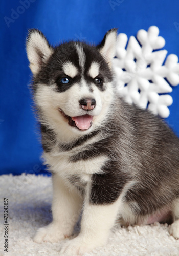
[[[34,241],[37,243],[57,242],[73,233],[82,205],[82,198],[76,190],[69,191],[64,181],[53,174],[53,221],[46,227],[39,228]]]

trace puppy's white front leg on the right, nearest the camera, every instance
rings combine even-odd
[[[110,229],[114,226],[119,210],[119,200],[113,198],[113,202],[107,202],[108,191],[96,187],[96,199],[101,197],[101,203],[95,200],[91,185],[88,184],[86,198],[81,220],[81,231],[79,235],[64,243],[60,255],[83,255],[93,250],[95,247],[106,243]],[[93,200],[92,200],[93,197]]]

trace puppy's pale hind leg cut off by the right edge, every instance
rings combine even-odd
[[[169,233],[179,239],[179,198],[172,203],[172,214],[174,222],[169,227]]]

